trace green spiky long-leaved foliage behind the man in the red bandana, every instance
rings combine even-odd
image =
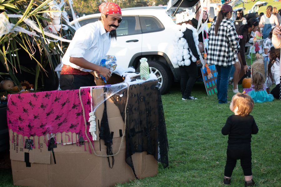
[[[2,14],[22,15],[22,18],[8,18],[10,23],[15,24],[14,27],[20,26],[39,36],[31,36],[23,32],[10,32],[0,36],[0,60],[2,63],[0,76],[2,79],[9,77],[17,86],[20,86],[20,81],[24,79],[23,74],[32,74],[35,77],[34,80],[28,81],[34,84],[35,90],[40,90],[43,88],[38,88],[37,85],[43,85],[43,78],[55,74],[54,69],[59,64],[59,59],[63,56],[69,43],[57,41],[44,35],[43,30],[46,25],[43,22],[51,22],[51,20],[44,17],[43,14],[60,12],[49,10],[48,3],[51,1],[0,0],[0,12]],[[24,22],[26,18],[32,20],[41,32],[37,32],[28,26]],[[61,23],[67,25],[63,18]],[[58,30],[57,36],[71,40],[74,32],[75,30],[69,26],[66,31]],[[22,55],[22,52],[19,54],[19,51],[23,51],[25,54]],[[22,56],[25,56],[25,58],[22,59]],[[41,81],[41,84],[38,84],[38,81]]]

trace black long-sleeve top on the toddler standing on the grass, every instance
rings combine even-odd
[[[258,131],[259,128],[251,115],[246,117],[231,115],[221,129],[223,135],[228,135],[229,144],[250,143],[252,134],[257,134]]]

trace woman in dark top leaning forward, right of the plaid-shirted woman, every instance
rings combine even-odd
[[[259,28],[259,21],[256,18],[250,18],[245,25],[241,25],[236,29],[236,32],[238,34],[238,41],[239,41],[239,52],[240,52],[240,57],[239,61],[240,62],[235,62],[234,67],[235,71],[233,74],[233,92],[234,93],[239,93],[238,91],[238,81],[246,74],[247,71],[247,62],[245,59],[245,45],[246,43],[250,40],[250,34],[251,32],[257,31]]]

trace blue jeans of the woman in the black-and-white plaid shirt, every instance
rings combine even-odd
[[[216,65],[218,77],[217,77],[217,90],[219,103],[227,103],[227,90],[228,90],[228,80],[230,74],[230,68],[232,65],[227,67]]]

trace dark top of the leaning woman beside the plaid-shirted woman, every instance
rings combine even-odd
[[[240,46],[239,52],[240,52],[240,55],[241,55],[242,64],[247,65],[246,58],[245,58],[245,45],[250,40],[250,34],[248,32],[247,25],[239,26],[236,29],[236,32],[237,32],[238,35],[243,36],[242,39],[241,38],[239,39],[239,46]]]

